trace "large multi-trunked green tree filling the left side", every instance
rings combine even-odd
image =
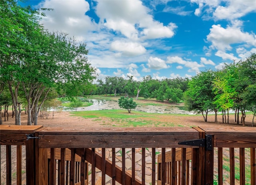
[[[39,24],[40,12],[22,8],[14,0],[1,1],[1,7],[1,78],[9,86],[15,124],[20,124],[19,91],[23,90],[28,102],[28,125],[33,116],[36,125],[40,107],[56,83],[66,87],[66,95],[74,95],[82,84],[95,79],[95,68],[86,58],[86,44],[64,33],[44,30]]]

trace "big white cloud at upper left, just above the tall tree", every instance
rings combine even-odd
[[[85,39],[85,33],[96,29],[96,24],[85,13],[90,10],[88,2],[84,0],[60,1],[45,0],[37,8],[53,8],[45,12],[41,23],[49,31],[62,30],[76,36],[79,40]]]

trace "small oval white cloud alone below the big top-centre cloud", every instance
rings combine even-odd
[[[112,42],[110,49],[122,52],[124,56],[138,56],[146,52],[144,46],[138,42],[122,42],[119,40]]]

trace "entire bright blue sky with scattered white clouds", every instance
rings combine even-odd
[[[256,53],[256,0],[30,0],[41,23],[86,42],[98,78],[192,77]]]

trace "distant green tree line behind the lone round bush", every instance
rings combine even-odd
[[[124,94],[126,97],[156,98],[159,101],[179,103],[183,92],[188,88],[188,78],[166,78],[164,80],[154,80],[150,75],[143,77],[142,81],[133,80],[133,76],[128,76],[128,80],[122,77],[107,76],[105,80],[98,80],[96,89],[92,94],[112,95]]]

